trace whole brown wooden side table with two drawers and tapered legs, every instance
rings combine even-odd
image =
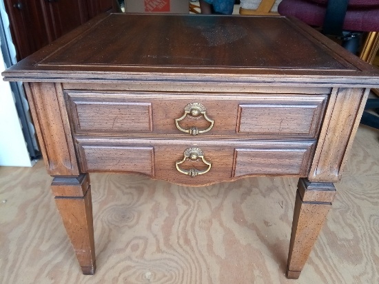
[[[25,82],[84,274],[88,173],[112,171],[193,186],[297,176],[287,276],[298,278],[379,85],[378,70],[285,17],[107,14],[3,76]]]

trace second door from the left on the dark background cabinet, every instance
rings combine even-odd
[[[81,0],[40,0],[45,6],[48,29],[54,39],[88,21],[85,2]]]

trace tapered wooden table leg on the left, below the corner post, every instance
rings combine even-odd
[[[96,270],[90,177],[55,177],[52,192],[83,274]]]

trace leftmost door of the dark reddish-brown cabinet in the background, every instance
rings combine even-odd
[[[17,60],[36,52],[52,41],[45,28],[42,3],[36,0],[5,0]]]

